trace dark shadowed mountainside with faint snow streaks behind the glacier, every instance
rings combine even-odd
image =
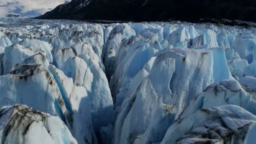
[[[37,19],[167,21],[237,19],[256,21],[255,0],[72,0]]]

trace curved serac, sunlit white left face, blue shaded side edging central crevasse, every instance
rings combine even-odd
[[[75,86],[85,88],[92,112],[92,123],[97,133],[102,126],[113,123],[113,102],[107,77],[87,54],[69,58],[61,67],[67,77],[72,77]]]

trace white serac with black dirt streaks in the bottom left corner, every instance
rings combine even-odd
[[[59,117],[26,105],[0,108],[1,144],[77,144]]]

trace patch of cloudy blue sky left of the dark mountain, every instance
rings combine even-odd
[[[24,17],[35,17],[51,11],[67,0],[0,0],[0,17],[19,13]]]

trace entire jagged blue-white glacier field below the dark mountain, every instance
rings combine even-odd
[[[1,144],[255,143],[255,27],[0,23]]]

